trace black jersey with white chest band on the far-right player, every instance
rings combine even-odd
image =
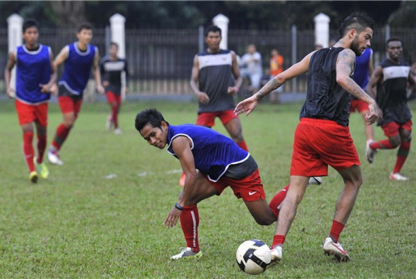
[[[383,111],[383,119],[379,123],[388,122],[403,124],[411,118],[406,99],[406,86],[410,66],[402,61],[399,64],[390,59],[380,63],[383,69],[383,82],[377,86],[376,101]]]

